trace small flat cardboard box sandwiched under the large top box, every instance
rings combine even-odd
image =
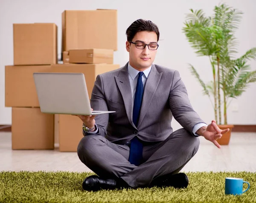
[[[74,64],[113,64],[111,49],[71,49],[69,62]]]

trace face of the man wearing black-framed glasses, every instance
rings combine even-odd
[[[157,34],[155,32],[137,32],[132,42],[142,42],[145,44],[157,44]],[[143,46],[142,46],[143,48]],[[126,50],[129,52],[129,62],[136,70],[143,71],[153,63],[157,50],[150,50],[148,46],[144,49],[137,49],[135,44],[126,41]]]

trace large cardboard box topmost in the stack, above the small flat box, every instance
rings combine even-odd
[[[117,11],[64,11],[62,52],[70,49],[117,50]]]

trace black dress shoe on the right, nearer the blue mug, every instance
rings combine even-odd
[[[178,174],[166,174],[160,177],[157,177],[150,184],[151,187],[174,187],[174,188],[187,188],[189,185],[189,178],[184,173]]]

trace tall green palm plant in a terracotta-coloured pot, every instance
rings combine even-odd
[[[186,15],[183,32],[199,56],[208,56],[213,80],[205,83],[195,67],[189,69],[203,87],[204,95],[212,102],[215,120],[221,129],[230,131],[218,143],[227,145],[233,125],[227,125],[227,108],[231,99],[241,96],[248,85],[256,81],[256,71],[250,71],[248,61],[256,59],[256,48],[235,58],[237,40],[234,35],[241,21],[242,12],[226,4],[215,6],[214,15],[206,17],[202,9],[190,9]],[[223,113],[222,113],[223,111]],[[224,122],[223,119],[224,118]],[[224,124],[224,125],[222,125]]]

